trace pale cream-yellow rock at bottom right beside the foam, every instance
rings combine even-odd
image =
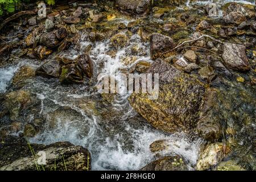
[[[220,142],[208,144],[199,156],[196,169],[203,171],[220,163],[224,158],[223,147],[223,144]]]

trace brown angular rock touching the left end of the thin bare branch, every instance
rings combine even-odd
[[[162,34],[154,33],[150,36],[150,57],[155,60],[164,52],[170,51],[175,47],[174,41]]]

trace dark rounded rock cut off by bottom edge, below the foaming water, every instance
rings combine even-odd
[[[147,164],[140,171],[187,171],[187,164],[180,156],[167,156]]]

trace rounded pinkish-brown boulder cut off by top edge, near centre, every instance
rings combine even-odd
[[[150,0],[117,0],[118,8],[129,14],[144,14],[151,8]]]

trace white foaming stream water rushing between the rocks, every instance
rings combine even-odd
[[[143,43],[138,35],[131,36],[129,45],[119,49],[115,56],[108,55],[109,40],[91,43],[81,36],[80,45],[79,51],[70,48],[64,54],[74,58],[92,47],[90,57],[96,79],[100,73],[118,75],[141,60],[152,62],[148,43]],[[134,55],[131,51],[133,46],[143,53]],[[127,63],[125,57],[135,59]],[[42,64],[31,59],[17,59],[16,63],[0,68],[1,94],[11,91],[11,80],[19,67],[30,65],[37,68]],[[30,138],[30,142],[51,144],[68,141],[88,148],[93,170],[137,170],[156,159],[150,151],[150,144],[164,139],[169,147],[161,155],[181,155],[193,169],[203,140],[154,129],[130,106],[129,94],[106,98],[107,102],[102,102],[95,89],[95,78],[91,85],[68,86],[61,85],[55,78],[34,77],[28,80],[22,89],[35,94],[40,101],[38,117],[44,118],[43,130]],[[122,83],[122,80],[117,81]],[[30,117],[32,122],[35,116],[31,114]]]

